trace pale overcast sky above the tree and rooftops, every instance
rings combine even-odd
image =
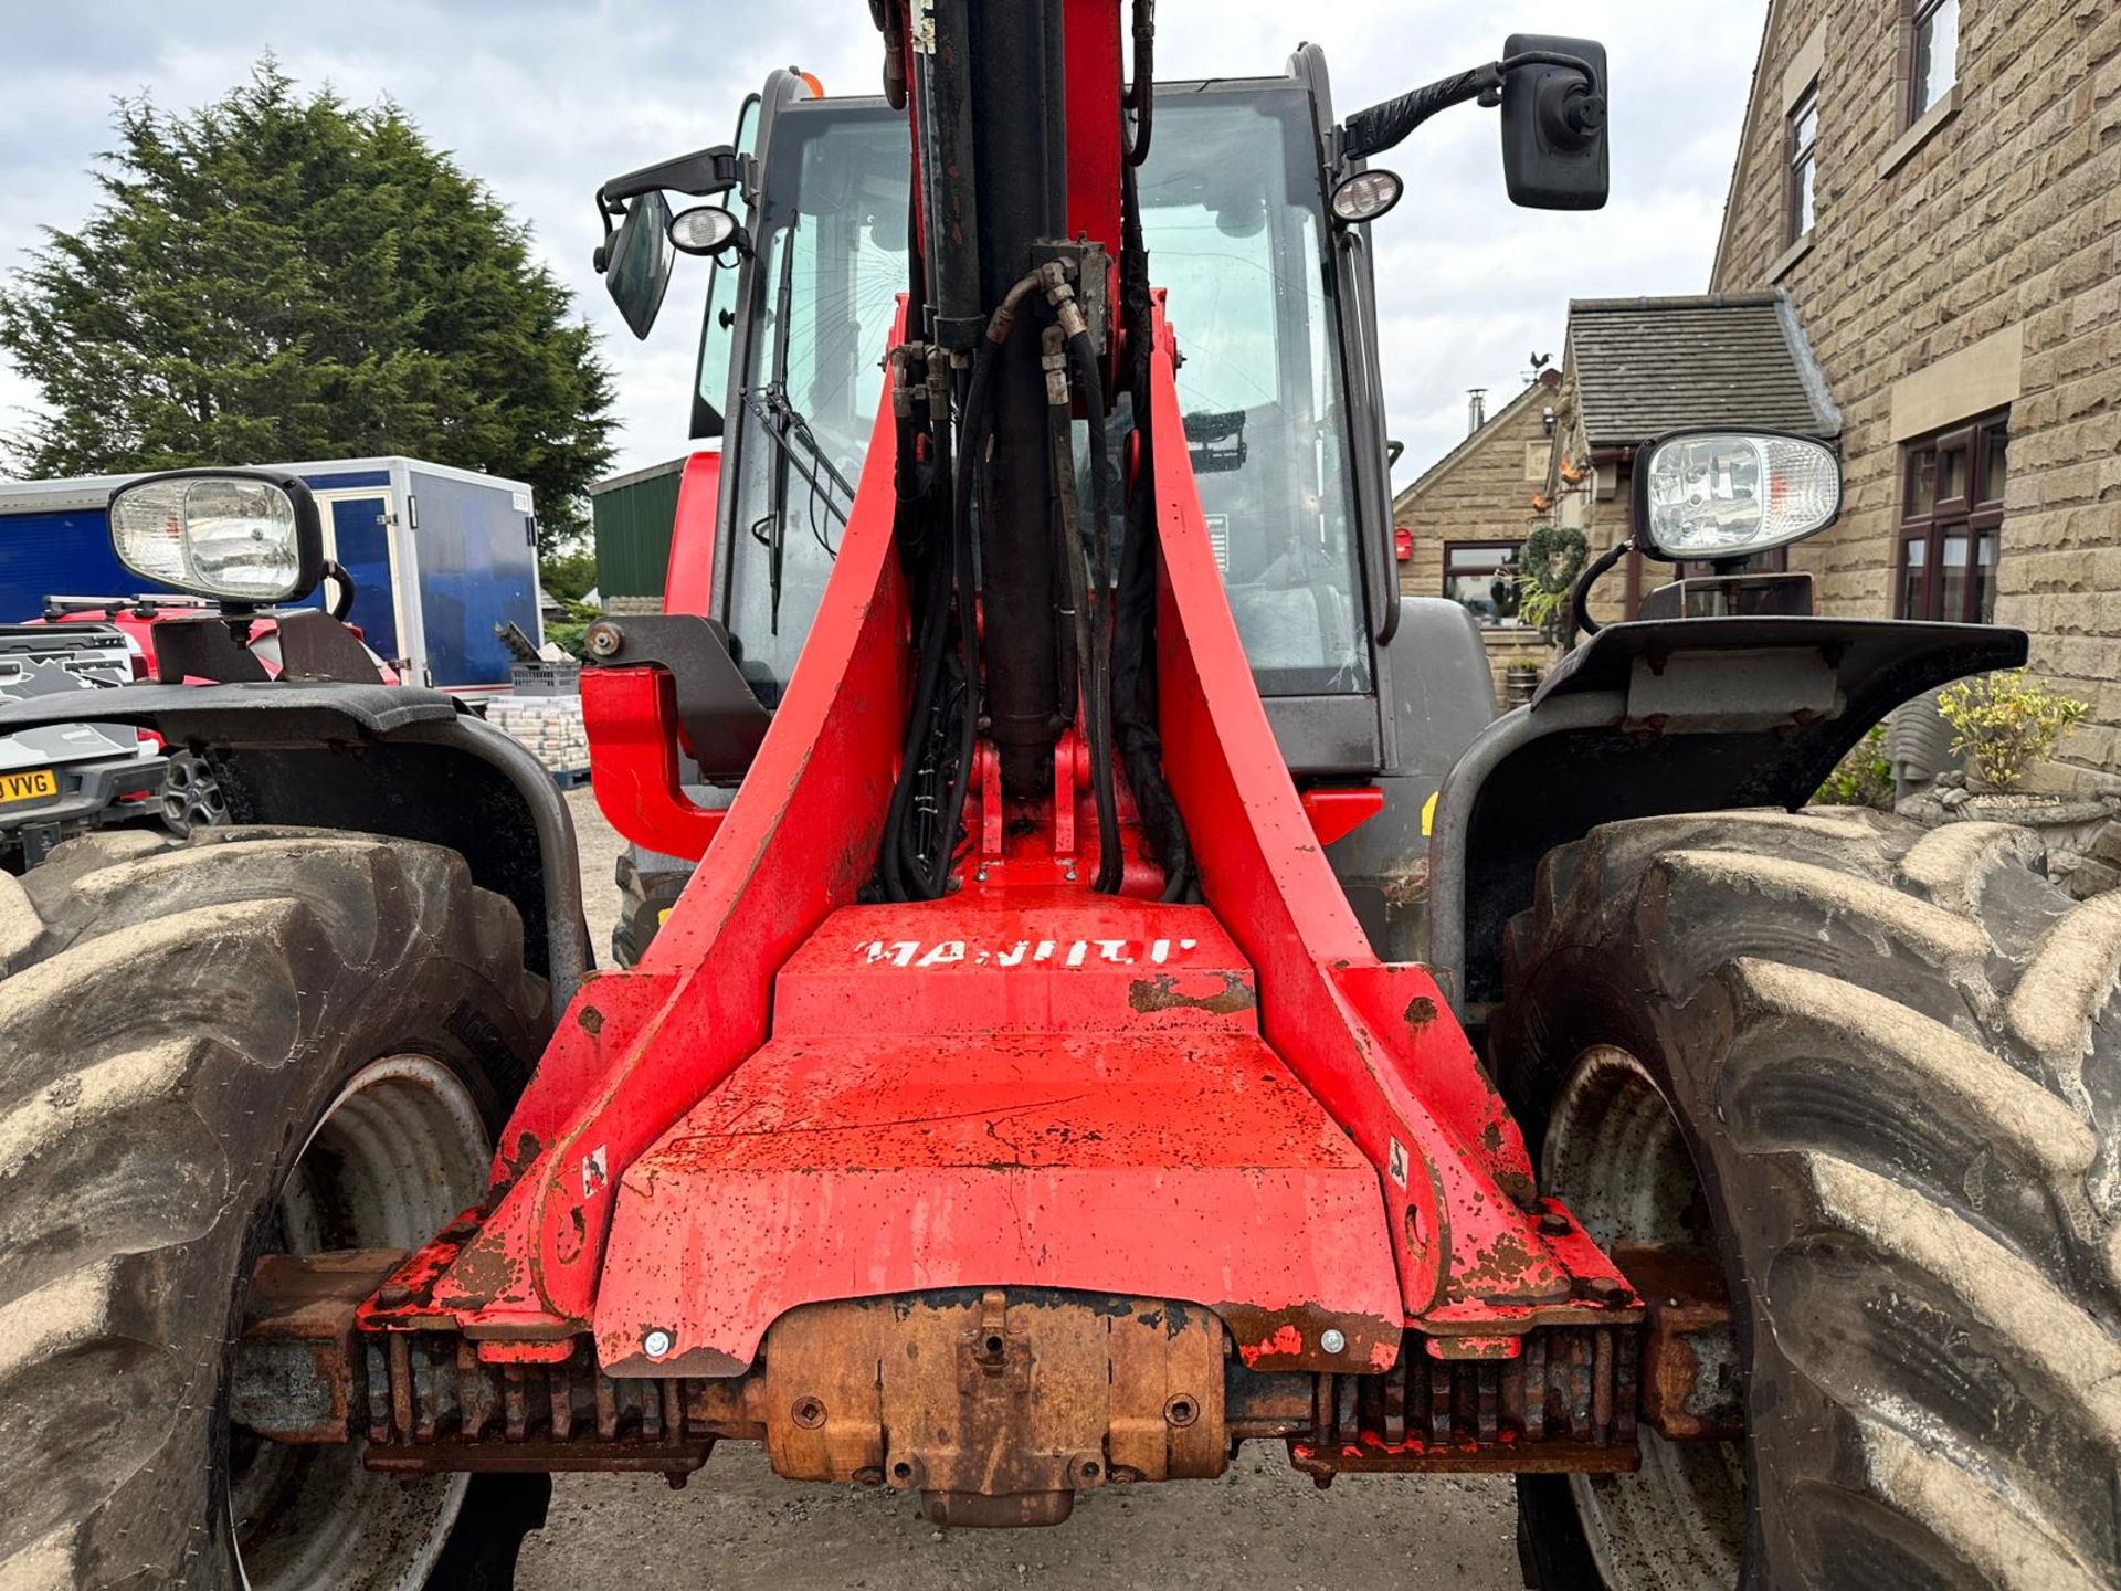
[[[1561,352],[1570,297],[1699,293],[1731,178],[1765,0],[1164,0],[1160,76],[1277,72],[1309,32],[1326,47],[1340,115],[1493,59],[1508,32],[1601,38],[1612,72],[1612,202],[1576,216],[1514,210],[1495,112],[1461,106],[1383,163],[1406,202],[1377,225],[1383,365],[1404,484],[1466,429],[1466,388],[1491,407],[1531,352]],[[641,344],[590,272],[590,195],[617,172],[723,142],[774,66],[827,93],[874,93],[880,40],[861,0],[74,0],[0,4],[0,269],[40,225],[76,227],[87,176],[112,144],[110,102],[146,91],[201,104],[265,51],[303,85],[397,100],[530,225],[575,289],[617,373],[619,467],[685,448],[704,267],[679,261],[662,322]],[[691,269],[685,269],[685,267]],[[1184,320],[1179,320],[1184,331]],[[36,388],[0,363],[0,431]],[[204,462],[204,460],[201,460]]]

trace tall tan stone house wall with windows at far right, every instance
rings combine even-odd
[[[2026,628],[2121,783],[2121,4],[1773,0],[1710,286],[1843,416],[1822,611]]]

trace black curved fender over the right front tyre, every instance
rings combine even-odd
[[[1459,1020],[1502,997],[1540,859],[1599,823],[1796,810],[1900,702],[2026,662],[2023,630],[1839,617],[1610,624],[1457,759],[1430,836],[1430,965]]]

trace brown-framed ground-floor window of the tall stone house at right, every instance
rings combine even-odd
[[[2004,479],[1989,479],[1992,443],[2000,437],[2004,445]],[[2011,412],[1992,409],[1973,420],[1958,420],[1943,431],[1909,437],[1900,443],[1900,515],[1894,526],[1892,545],[1892,615],[1896,619],[1924,619],[1943,624],[1992,624],[1996,609],[1996,573],[2002,564],[2002,494],[2009,490],[2011,473]],[[1915,469],[1930,458],[1930,501],[1920,507],[1915,499]],[[1947,458],[1960,458],[1960,492],[1939,496],[1945,479]],[[1945,543],[1962,537],[1964,560],[1945,564]],[[1983,564],[1981,547],[1987,543],[1989,558]],[[1915,566],[1911,547],[1922,547],[1922,564]],[[1945,613],[1945,581],[1960,577],[1958,613]],[[1917,596],[1915,602],[1909,598]],[[1917,609],[1920,611],[1913,611]],[[1983,613],[1983,607],[1987,613]]]

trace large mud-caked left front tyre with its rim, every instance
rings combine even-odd
[[[0,1589],[505,1587],[543,1476],[229,1419],[263,1252],[418,1247],[549,1029],[456,853],[106,834],[0,878]]]

